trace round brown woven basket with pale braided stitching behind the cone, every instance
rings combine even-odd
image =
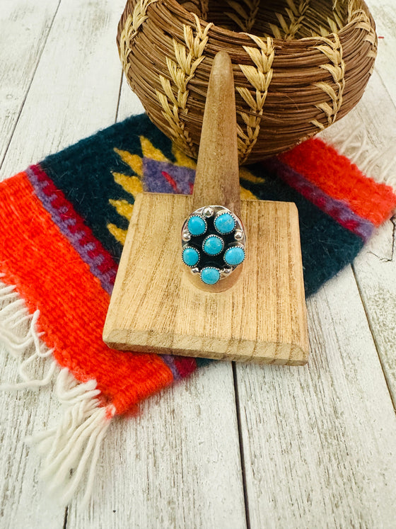
[[[363,0],[128,0],[117,44],[148,116],[191,157],[211,64],[226,50],[241,164],[290,149],[346,115],[377,52]]]

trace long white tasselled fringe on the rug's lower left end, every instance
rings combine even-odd
[[[59,503],[66,505],[84,481],[83,504],[87,504],[100,445],[115,415],[115,406],[101,406],[95,380],[81,383],[68,369],[59,371],[56,361],[48,358],[52,350],[40,341],[42,334],[37,331],[40,311],[37,309],[30,314],[15,287],[2,283],[2,277],[4,274],[0,274],[0,341],[18,360],[18,375],[23,382],[2,384],[0,389],[38,389],[56,378],[55,390],[64,406],[62,419],[55,428],[37,433],[26,441],[36,444],[38,451],[45,455],[41,475],[47,479]],[[20,326],[24,324],[26,328],[27,323],[28,329],[22,334]],[[50,368],[41,379],[28,370],[35,360],[40,364],[43,360],[50,362]]]

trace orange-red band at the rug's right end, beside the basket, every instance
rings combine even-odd
[[[347,157],[318,138],[279,154],[279,159],[327,195],[347,202],[352,211],[377,227],[395,210],[396,194],[390,186],[368,178]]]

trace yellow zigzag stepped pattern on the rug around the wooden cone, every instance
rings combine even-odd
[[[146,137],[141,136],[140,137],[140,144],[141,144],[141,152],[143,153],[143,157],[140,157],[139,154],[131,154],[128,151],[122,151],[120,149],[114,149],[115,152],[117,152],[118,156],[124,161],[125,164],[127,164],[132,171],[134,171],[134,176],[128,176],[127,174],[123,173],[112,173],[112,176],[114,176],[115,182],[117,182],[129,195],[132,195],[133,199],[135,199],[136,195],[138,193],[143,193],[144,188],[142,184],[142,179],[144,177],[144,171],[143,171],[143,158],[150,158],[156,161],[164,161],[169,164],[173,163],[174,165],[180,166],[180,167],[187,167],[189,169],[195,169],[197,164],[194,160],[187,157],[184,153],[182,153],[175,145],[173,145],[173,156],[175,157],[175,162],[170,161],[163,152],[160,149],[157,149],[153,146],[153,144],[148,140]],[[241,167],[239,170],[239,176],[243,180],[247,180],[252,183],[263,183],[264,178],[260,178],[259,176],[255,176],[254,174],[250,173],[248,169],[245,169],[245,167]],[[257,200],[257,197],[253,195],[253,193],[250,192],[250,190],[240,187],[240,198],[243,198],[243,200]],[[115,207],[117,210],[117,213],[121,215],[122,217],[125,217],[127,220],[130,220],[132,217],[132,212],[134,210],[133,203],[129,203],[128,200],[109,200],[110,204]],[[127,230],[121,229],[120,227],[116,226],[115,224],[107,224],[107,229],[112,234],[117,241],[119,241],[122,245],[125,243],[125,238],[127,237]]]

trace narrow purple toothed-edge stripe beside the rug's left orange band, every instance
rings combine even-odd
[[[29,181],[35,189],[35,194],[37,195],[37,198],[40,199],[42,205],[45,207],[47,212],[50,213],[52,220],[55,224],[57,224],[57,227],[59,227],[59,230],[62,235],[64,235],[64,237],[69,240],[71,246],[73,246],[73,248],[78,252],[78,254],[80,254],[83,261],[88,264],[91,273],[93,273],[93,275],[95,275],[95,277],[100,280],[103,289],[108,294],[111,294],[115,281],[115,275],[117,273],[115,263],[114,268],[111,268],[110,270],[107,270],[105,272],[101,271],[100,265],[103,263],[103,261],[105,261],[105,256],[100,254],[95,255],[95,252],[93,252],[93,250],[95,249],[95,243],[93,241],[89,241],[88,243],[81,242],[81,240],[86,239],[85,232],[71,232],[71,227],[74,227],[77,221],[76,219],[71,217],[64,218],[64,215],[66,213],[64,207],[60,207],[59,209],[57,207],[54,207],[53,202],[57,199],[57,195],[48,195],[48,193],[45,193],[45,188],[50,185],[49,182],[40,181],[32,167],[29,167],[29,169],[26,171],[26,174],[28,175]]]

